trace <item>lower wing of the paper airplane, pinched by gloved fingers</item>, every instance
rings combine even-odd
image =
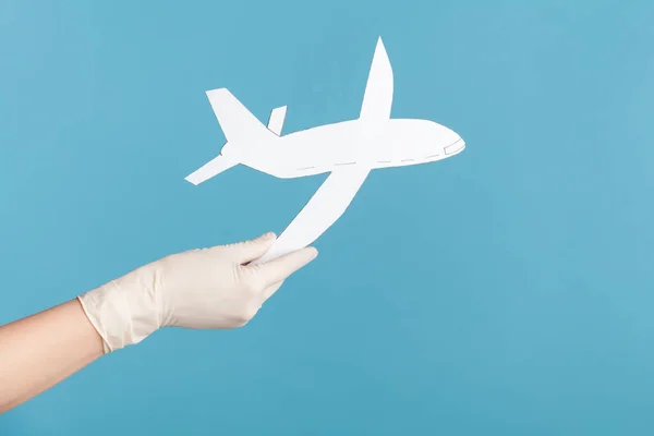
[[[368,168],[353,166],[331,172],[270,251],[253,264],[311,245],[343,215],[370,171]]]

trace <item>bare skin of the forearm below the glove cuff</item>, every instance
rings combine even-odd
[[[102,354],[102,340],[76,299],[1,326],[0,413]]]

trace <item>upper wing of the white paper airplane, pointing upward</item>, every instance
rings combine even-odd
[[[363,105],[361,106],[361,120],[382,121],[390,118],[392,106],[392,68],[386,53],[382,38],[377,40],[373,64],[368,73]]]

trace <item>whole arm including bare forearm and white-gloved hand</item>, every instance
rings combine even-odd
[[[250,265],[272,242],[268,233],[167,256],[0,327],[0,413],[161,327],[245,325],[283,280],[317,254],[308,247]]]

